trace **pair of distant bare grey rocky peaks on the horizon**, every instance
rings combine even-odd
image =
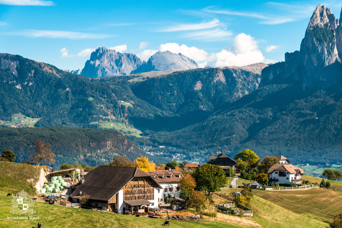
[[[169,51],[156,52],[147,63],[131,53],[120,53],[99,47],[91,53],[90,59],[82,70],[68,70],[75,75],[82,74],[90,78],[103,78],[153,70],[183,70],[198,68],[192,59]]]

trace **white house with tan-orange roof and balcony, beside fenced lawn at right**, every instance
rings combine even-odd
[[[275,164],[267,171],[269,183],[300,183],[304,170],[291,164]]]

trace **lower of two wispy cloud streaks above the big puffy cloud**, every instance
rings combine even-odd
[[[204,31],[196,31],[189,32],[184,37],[199,39],[199,40],[208,40],[208,41],[216,41],[216,40],[226,40],[233,35],[232,31],[227,31],[226,28],[223,29],[215,29],[215,30],[204,30]]]

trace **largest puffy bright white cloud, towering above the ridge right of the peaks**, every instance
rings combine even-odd
[[[214,67],[246,66],[265,61],[264,55],[258,49],[258,43],[250,35],[241,33],[234,39],[231,47],[218,53],[212,53],[207,65]]]

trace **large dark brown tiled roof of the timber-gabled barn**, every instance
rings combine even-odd
[[[101,165],[84,176],[84,183],[77,186],[71,197],[82,191],[93,200],[110,200],[133,177],[150,176],[139,168]],[[153,179],[151,177],[151,179]],[[156,183],[156,186],[161,186]]]

